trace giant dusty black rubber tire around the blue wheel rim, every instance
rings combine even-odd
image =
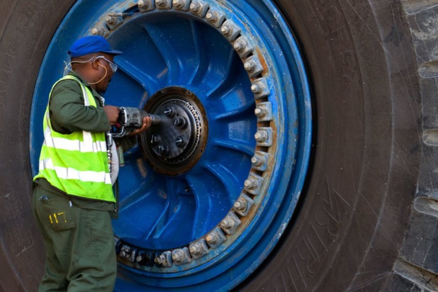
[[[286,230],[276,231],[280,242],[239,288],[436,290],[433,1],[275,2],[313,85],[313,155],[299,206]],[[29,116],[45,50],[72,4],[1,3],[5,291],[35,289],[43,271],[30,212],[28,153],[38,149],[30,147]]]

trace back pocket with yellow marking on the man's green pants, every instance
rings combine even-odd
[[[76,228],[76,221],[68,198],[47,194],[38,198],[38,204],[43,208],[44,221],[52,230],[62,231]]]

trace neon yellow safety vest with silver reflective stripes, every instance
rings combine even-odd
[[[58,82],[66,79],[79,83],[84,96],[84,106],[96,107],[93,94],[79,79],[67,75]],[[58,82],[52,86],[49,99]],[[40,172],[34,180],[45,178],[52,186],[72,196],[115,202],[108,168],[105,133],[57,133],[50,123],[48,104],[43,124],[44,143],[40,154]]]

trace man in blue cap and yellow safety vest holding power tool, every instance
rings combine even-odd
[[[118,166],[109,161],[106,133],[119,109],[104,105],[100,93],[111,82],[117,70],[113,58],[120,53],[101,36],[77,40],[69,50],[72,72],[50,91],[33,191],[46,251],[39,291],[113,290],[117,263],[111,215],[117,215]],[[151,123],[145,118],[120,147],[132,147],[133,135]],[[112,156],[117,161],[116,152]]]

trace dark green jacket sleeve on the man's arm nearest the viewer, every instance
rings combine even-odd
[[[103,108],[84,106],[81,86],[74,80],[59,82],[49,102],[53,130],[69,134],[79,130],[108,132],[111,126]]]

